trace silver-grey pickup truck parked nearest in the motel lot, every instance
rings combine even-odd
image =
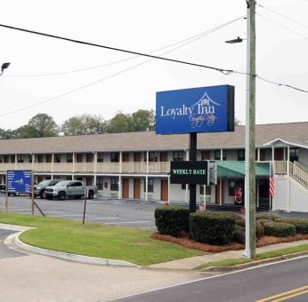
[[[47,199],[57,197],[64,200],[66,197],[81,198],[85,197],[85,189],[88,190],[88,199],[93,199],[97,193],[96,186],[85,186],[80,180],[63,180],[55,184],[53,187],[45,188],[45,196]]]

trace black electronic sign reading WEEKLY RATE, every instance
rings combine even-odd
[[[171,162],[170,182],[172,184],[208,184],[207,161]]]

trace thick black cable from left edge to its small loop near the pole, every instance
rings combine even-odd
[[[223,73],[223,75],[229,75],[232,72],[234,72],[233,70],[230,70],[230,69],[215,68],[215,67],[212,67],[212,66],[207,66],[207,65],[198,64],[198,63],[191,63],[191,62],[187,62],[187,61],[183,61],[183,60],[174,60],[174,59],[169,59],[169,58],[164,58],[164,57],[158,57],[158,56],[146,54],[146,53],[143,53],[143,52],[127,51],[127,50],[124,50],[124,49],[121,49],[121,48],[110,47],[110,46],[101,45],[101,44],[93,44],[93,43],[84,42],[84,41],[80,41],[80,40],[70,39],[70,38],[67,38],[67,37],[64,37],[64,36],[49,35],[49,34],[41,33],[41,32],[34,31],[34,30],[28,30],[28,29],[24,29],[24,28],[15,28],[15,27],[12,27],[12,26],[4,25],[4,24],[0,24],[0,27],[19,30],[19,31],[22,31],[22,32],[35,34],[35,35],[39,35],[39,36],[48,36],[48,37],[52,37],[52,38],[55,38],[55,39],[69,41],[69,42],[73,42],[73,43],[77,43],[77,44],[84,44],[84,45],[89,45],[89,46],[94,46],[94,47],[100,47],[100,48],[108,49],[110,51],[126,52],[126,53],[135,54],[135,55],[142,56],[142,57],[148,57],[148,58],[151,58],[151,59],[166,60],[166,61],[169,61],[169,62],[180,63],[180,64],[195,66],[195,67],[199,67],[199,68],[212,69],[212,70],[216,70],[216,71]]]

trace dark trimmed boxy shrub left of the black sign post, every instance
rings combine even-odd
[[[189,232],[190,210],[184,207],[166,207],[155,209],[155,224],[160,234],[180,236]]]

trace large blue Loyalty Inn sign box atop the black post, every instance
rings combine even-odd
[[[223,131],[234,131],[233,86],[157,92],[157,134]]]

